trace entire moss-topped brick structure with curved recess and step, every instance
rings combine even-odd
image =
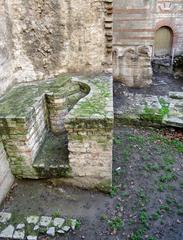
[[[63,76],[19,85],[0,99],[0,135],[11,171],[18,178],[65,176],[84,187],[87,182],[87,187],[109,191],[112,129],[109,77]],[[67,137],[60,135],[65,130],[68,149]]]

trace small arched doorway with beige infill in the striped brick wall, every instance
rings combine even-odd
[[[173,31],[169,27],[161,27],[155,33],[154,55],[156,57],[171,56]]]

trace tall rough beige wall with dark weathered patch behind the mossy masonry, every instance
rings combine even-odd
[[[1,0],[0,94],[12,82],[112,64],[112,0]]]

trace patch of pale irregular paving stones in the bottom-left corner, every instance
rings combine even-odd
[[[63,217],[17,215],[0,212],[0,239],[37,240],[40,235],[50,239],[74,231],[78,223],[77,219]],[[18,220],[15,220],[16,218]]]

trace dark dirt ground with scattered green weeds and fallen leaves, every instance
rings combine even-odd
[[[154,129],[115,127],[109,195],[17,181],[0,210],[74,217],[81,227],[63,240],[182,240],[183,143]],[[40,239],[50,239],[40,237]]]

